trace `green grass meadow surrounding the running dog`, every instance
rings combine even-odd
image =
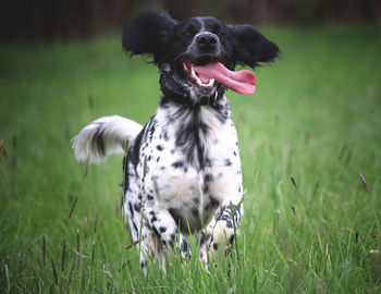
[[[256,71],[255,95],[229,93],[246,187],[230,274],[223,260],[206,272],[195,254],[144,278],[116,211],[122,157],[87,179],[74,160],[70,140],[90,120],[149,119],[158,70],[126,58],[119,36],[2,45],[0,292],[380,293],[381,28],[265,34],[282,57]]]

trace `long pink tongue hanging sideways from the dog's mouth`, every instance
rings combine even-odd
[[[201,79],[214,78],[217,82],[242,95],[253,94],[256,90],[256,75],[247,70],[232,72],[222,63],[216,62],[195,66],[195,71]]]

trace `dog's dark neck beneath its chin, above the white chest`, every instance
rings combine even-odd
[[[196,94],[189,85],[174,74],[169,64],[160,66],[160,89],[162,102],[171,101],[190,108],[216,106],[224,97],[226,88],[219,86],[212,94]]]

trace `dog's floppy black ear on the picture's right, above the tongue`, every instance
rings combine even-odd
[[[233,59],[255,68],[260,62],[273,61],[279,54],[275,44],[250,25],[229,25],[233,37]]]

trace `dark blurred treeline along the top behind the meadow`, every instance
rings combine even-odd
[[[358,23],[381,21],[380,0],[3,0],[0,40],[84,38],[122,32],[146,9],[184,20],[213,15],[254,24]]]

